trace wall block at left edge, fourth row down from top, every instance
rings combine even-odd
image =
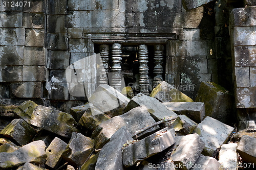
[[[0,65],[23,65],[23,46],[9,44],[0,46],[0,51]]]

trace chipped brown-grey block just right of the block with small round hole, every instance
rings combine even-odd
[[[94,150],[94,140],[73,132],[62,157],[75,166],[81,166]]]

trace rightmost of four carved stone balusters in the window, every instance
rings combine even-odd
[[[155,88],[159,83],[163,81],[163,51],[164,46],[161,44],[154,45],[155,56],[154,56],[154,79],[153,88]]]

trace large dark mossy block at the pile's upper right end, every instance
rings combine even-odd
[[[233,96],[222,86],[212,82],[202,82],[196,102],[203,102],[205,115],[226,123],[230,120],[233,107]]]

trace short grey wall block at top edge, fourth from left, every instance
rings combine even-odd
[[[68,10],[69,11],[95,10],[95,0],[91,0],[91,1],[69,0]]]

